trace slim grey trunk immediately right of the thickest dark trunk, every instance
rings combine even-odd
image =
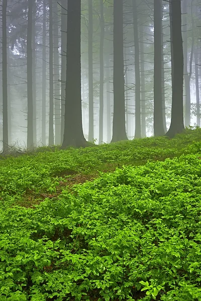
[[[93,121],[93,8],[92,0],[88,0],[88,141],[94,137]]]

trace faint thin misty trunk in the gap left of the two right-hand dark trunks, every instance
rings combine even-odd
[[[140,26],[142,41],[140,43],[140,71],[141,71],[141,135],[146,137],[146,92],[145,92],[145,62],[144,62],[144,42],[143,42],[143,25]]]

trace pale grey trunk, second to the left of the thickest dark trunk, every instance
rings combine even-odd
[[[55,145],[61,144],[61,95],[59,83],[59,29],[57,0],[53,4],[53,30],[54,30],[54,123]]]

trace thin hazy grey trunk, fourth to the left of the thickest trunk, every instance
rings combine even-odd
[[[42,144],[46,144],[46,0],[43,0]]]

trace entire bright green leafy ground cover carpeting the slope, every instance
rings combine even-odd
[[[200,129],[43,149],[0,171],[0,301],[201,299]]]

